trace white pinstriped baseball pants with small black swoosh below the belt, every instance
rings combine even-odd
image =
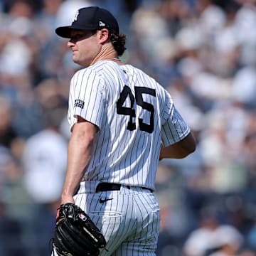
[[[78,192],[74,198],[105,235],[107,250],[100,256],[156,255],[160,213],[154,193],[122,186],[120,191]]]

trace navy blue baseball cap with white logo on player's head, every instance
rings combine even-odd
[[[75,14],[73,23],[70,26],[60,26],[55,33],[63,38],[70,38],[73,29],[100,30],[107,28],[119,34],[119,26],[116,18],[107,11],[97,6],[81,8]]]

